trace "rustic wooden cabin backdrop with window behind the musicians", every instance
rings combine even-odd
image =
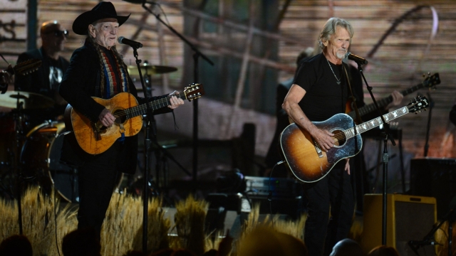
[[[83,42],[83,36],[71,31],[73,20],[97,3],[0,0],[0,53],[9,63],[16,63],[20,53],[40,46],[41,23],[58,20],[70,31],[63,53],[69,60],[73,50]],[[448,119],[456,100],[455,1],[160,0],[153,3],[146,4],[153,14],[182,33],[214,63],[198,58],[197,82],[206,91],[198,100],[199,139],[225,142],[242,138],[244,124],[255,125],[254,164],[247,167],[251,169],[242,170],[247,174],[261,172],[258,168],[261,169],[262,158],[274,135],[276,85],[294,75],[296,56],[301,50],[315,46],[318,32],[331,16],[345,18],[353,25],[351,52],[368,59],[364,74],[377,100],[388,97],[393,90],[418,85],[424,80],[423,73],[440,74],[441,84],[436,90],[418,91],[422,95],[429,93],[435,102],[428,156],[456,156],[455,126]],[[119,0],[113,0],[113,4],[118,14],[131,13],[120,27],[119,36],[144,45],[138,50],[139,58],[153,65],[177,68],[174,73],[152,75],[152,94],[182,91],[195,81],[194,51],[186,43],[141,4]],[[118,50],[127,65],[135,65],[129,46],[118,45]],[[6,68],[3,60],[0,68]],[[370,103],[366,88],[364,92],[366,103]],[[418,92],[405,96],[402,105],[407,105]],[[186,142],[192,140],[193,108],[193,103],[187,102],[175,111],[179,129],[175,129],[172,115],[156,117],[160,142],[175,145],[175,149],[170,146],[170,151],[178,154],[177,160],[184,163],[192,160],[191,153],[180,152],[191,152]],[[406,167],[411,158],[424,154],[428,114],[408,114],[397,120],[397,127],[403,131]],[[366,158],[376,158],[375,145],[372,142]],[[179,149],[180,146],[187,149]],[[208,154],[200,154],[198,171],[209,168],[204,159],[214,161],[218,157]],[[230,154],[233,158],[234,153]],[[187,168],[191,169],[191,164]],[[171,163],[171,169],[178,168]],[[174,174],[185,176],[178,170]]]

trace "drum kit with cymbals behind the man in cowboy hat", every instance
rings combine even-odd
[[[177,68],[145,63],[146,75],[168,73]],[[128,67],[130,75],[138,70]],[[6,91],[0,94],[0,107],[12,109],[0,113],[0,196],[14,198],[16,178],[28,185],[38,185],[46,194],[55,189],[65,201],[78,203],[78,170],[60,161],[65,124],[43,120],[31,124],[31,114],[54,107],[54,100],[34,92]],[[123,176],[118,177],[118,187]]]

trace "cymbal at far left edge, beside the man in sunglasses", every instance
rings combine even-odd
[[[6,91],[0,94],[0,107],[16,108],[17,100],[26,110],[41,109],[54,106],[54,100],[35,92]]]

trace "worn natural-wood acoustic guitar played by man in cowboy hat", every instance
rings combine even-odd
[[[196,100],[204,95],[200,84],[185,87],[179,95],[172,95],[183,100]],[[158,110],[170,104],[170,97],[149,102],[151,110]],[[147,112],[147,105],[138,105],[136,98],[128,92],[120,92],[109,100],[93,97],[95,102],[105,106],[115,117],[115,124],[104,127],[100,121],[91,122],[81,112],[68,105],[65,110],[65,125],[71,127],[81,149],[88,154],[100,154],[106,151],[120,137],[138,134],[142,128],[142,114]]]

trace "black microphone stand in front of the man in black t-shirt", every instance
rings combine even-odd
[[[364,82],[366,83],[366,87],[368,88],[369,94],[371,95],[373,104],[375,105],[375,109],[377,110],[378,114],[380,114],[380,119],[383,122],[383,127],[385,127],[385,132],[384,138],[383,138],[383,211],[382,211],[382,245],[386,245],[386,201],[387,201],[387,195],[386,195],[386,190],[387,190],[387,184],[388,184],[388,137],[391,141],[391,144],[395,146],[395,142],[393,139],[393,136],[391,135],[390,132],[390,127],[389,125],[385,122],[385,119],[383,118],[383,114],[380,111],[380,108],[377,105],[377,102],[375,101],[375,97],[373,97],[372,93],[372,87],[368,85],[368,81],[364,77],[363,73],[363,68],[361,68],[361,64],[359,61],[355,61],[356,64],[358,64],[358,71],[361,74],[361,77],[363,77]]]

